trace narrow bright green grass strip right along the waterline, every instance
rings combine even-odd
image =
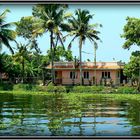
[[[119,100],[119,101],[127,101],[127,100],[135,100],[140,102],[140,94],[102,94],[102,93],[50,93],[50,92],[35,92],[35,91],[0,91],[0,94],[24,94],[24,95],[62,95],[65,99],[75,99],[75,98],[107,98],[109,100]]]

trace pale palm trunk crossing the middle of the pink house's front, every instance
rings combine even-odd
[[[82,37],[79,40],[79,56],[80,56],[80,85],[83,85],[83,74],[82,74]]]

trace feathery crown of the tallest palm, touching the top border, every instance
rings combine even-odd
[[[64,22],[70,17],[70,14],[65,13],[67,8],[66,4],[36,5],[33,7],[32,14],[42,20],[44,29],[53,30],[53,33],[60,37],[60,29],[65,31],[68,27]]]

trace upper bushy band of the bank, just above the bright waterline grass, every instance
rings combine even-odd
[[[48,86],[33,85],[33,84],[0,84],[0,91],[14,92],[37,92],[37,93],[102,93],[102,94],[138,94],[136,87],[130,86]]]

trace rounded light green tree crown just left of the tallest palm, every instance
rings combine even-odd
[[[36,38],[44,32],[41,28],[42,21],[33,16],[27,16],[22,17],[15,25],[17,35],[27,40],[27,44],[31,44],[30,49],[35,49],[36,52],[41,53]]]

